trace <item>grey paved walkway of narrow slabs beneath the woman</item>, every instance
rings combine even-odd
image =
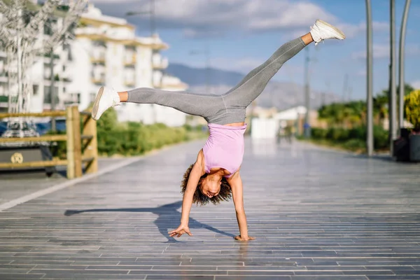
[[[420,165],[247,139],[251,236],[179,183],[202,141],[0,212],[0,279],[420,279]]]

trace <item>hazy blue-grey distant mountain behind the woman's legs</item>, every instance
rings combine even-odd
[[[188,90],[223,94],[237,85],[244,78],[243,73],[221,69],[203,69],[183,64],[169,64],[167,73],[180,78],[190,85]],[[208,75],[208,76],[207,76]],[[207,80],[208,79],[208,80]],[[317,109],[322,104],[339,101],[335,94],[311,91],[311,108]],[[284,83],[271,80],[265,90],[256,99],[258,106],[279,110],[304,105],[304,87],[296,83]]]

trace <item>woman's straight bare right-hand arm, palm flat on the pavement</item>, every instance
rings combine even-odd
[[[246,224],[246,215],[244,209],[244,190],[242,186],[242,179],[239,171],[230,177],[228,180],[230,188],[232,188],[233,203],[235,204],[235,211],[239,226],[240,235],[235,237],[238,240],[252,240],[254,237],[248,237],[248,225]]]

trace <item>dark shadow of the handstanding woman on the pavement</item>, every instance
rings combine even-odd
[[[174,202],[171,204],[165,204],[161,207],[155,208],[119,208],[119,209],[86,209],[86,210],[66,210],[64,212],[64,216],[73,216],[75,214],[82,214],[85,212],[137,212],[137,213],[146,213],[150,212],[153,214],[158,215],[158,218],[155,220],[155,225],[158,227],[158,230],[161,235],[166,237],[168,241],[179,242],[178,240],[174,239],[173,237],[169,237],[168,232],[170,230],[175,230],[179,226],[179,216],[181,212],[178,209],[182,206],[182,201]],[[220,233],[221,235],[225,235],[228,237],[234,237],[228,232],[223,232],[216,228],[211,227],[210,225],[206,225],[204,223],[200,223],[199,221],[190,218],[190,222],[188,223],[190,229],[194,228],[205,228],[207,230],[211,230],[212,232]],[[193,233],[194,234],[194,233]]]

